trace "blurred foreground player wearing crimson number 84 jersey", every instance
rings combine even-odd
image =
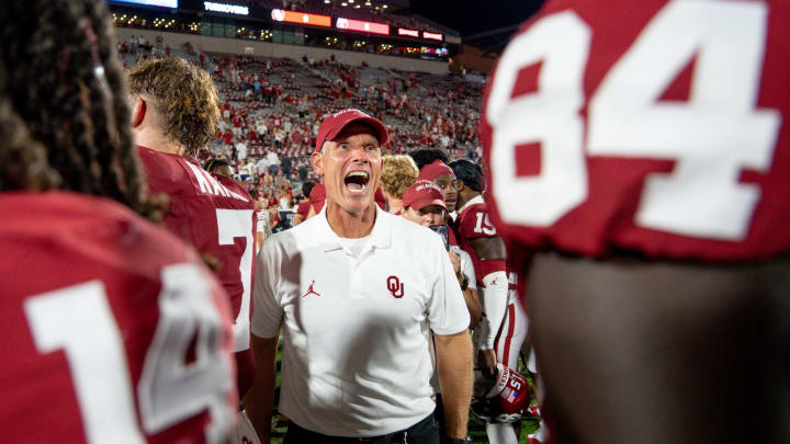
[[[544,248],[518,270],[555,442],[790,442],[788,16],[550,0],[501,55],[489,208]]]

